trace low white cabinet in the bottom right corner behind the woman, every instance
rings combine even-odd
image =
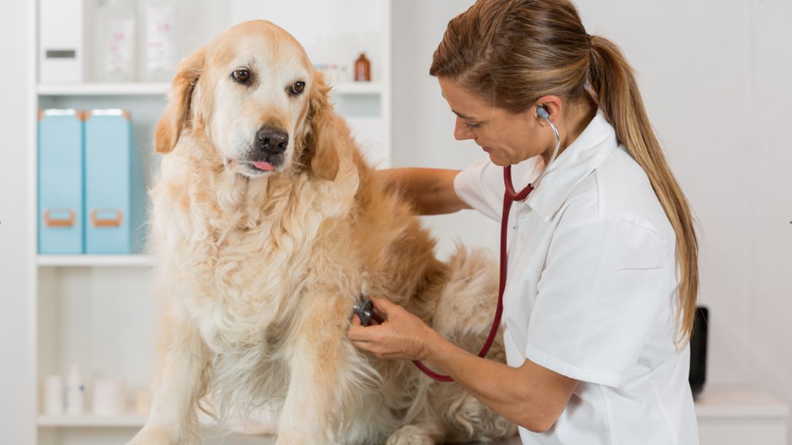
[[[705,386],[695,403],[701,445],[786,445],[789,407],[748,386]]]

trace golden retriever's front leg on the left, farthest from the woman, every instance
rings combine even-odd
[[[128,445],[196,443],[196,401],[207,367],[206,349],[186,314],[162,319],[160,356],[149,418]]]

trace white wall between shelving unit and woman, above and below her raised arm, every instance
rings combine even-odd
[[[463,169],[485,153],[472,141],[453,137],[455,115],[429,75],[432,53],[451,17],[472,0],[399,0],[393,2],[393,150],[394,167],[418,166]],[[438,251],[447,256],[455,242],[493,249],[497,257],[500,225],[474,211],[432,216]]]

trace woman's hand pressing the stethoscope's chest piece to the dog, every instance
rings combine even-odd
[[[382,325],[364,326],[357,314],[352,315],[347,333],[352,344],[383,359],[426,359],[428,339],[434,331],[402,306],[379,297],[371,300],[385,321]]]

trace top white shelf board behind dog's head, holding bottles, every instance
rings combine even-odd
[[[39,84],[39,96],[166,96],[170,83],[51,83]],[[378,82],[343,82],[333,86],[331,93],[379,94],[383,86]]]

